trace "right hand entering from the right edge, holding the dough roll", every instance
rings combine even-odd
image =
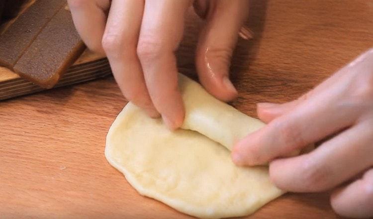
[[[279,188],[334,189],[338,214],[373,217],[373,49],[298,100],[259,104],[258,115],[268,125],[235,145],[237,165],[270,161]],[[283,156],[331,135],[309,153]]]

